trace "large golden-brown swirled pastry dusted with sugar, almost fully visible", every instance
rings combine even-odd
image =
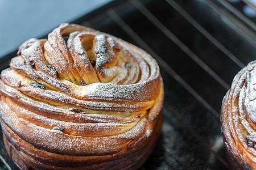
[[[22,169],[136,169],[162,126],[155,60],[75,24],[24,42],[0,94],[5,146]]]

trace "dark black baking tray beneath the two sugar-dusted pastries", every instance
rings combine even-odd
[[[222,97],[256,57],[255,23],[225,1],[113,1],[73,23],[140,46],[164,80],[164,123],[141,169],[227,169]],[[1,70],[13,52],[0,59]],[[0,129],[1,132],[1,129]],[[17,169],[0,140],[0,169]]]

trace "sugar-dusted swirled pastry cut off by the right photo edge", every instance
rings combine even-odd
[[[221,128],[233,169],[256,169],[256,62],[233,79],[222,101]]]

